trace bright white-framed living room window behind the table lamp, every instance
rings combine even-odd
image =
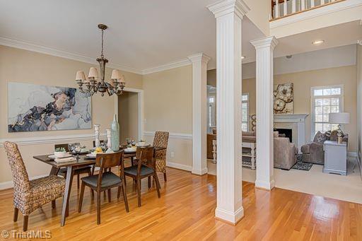
[[[343,112],[343,86],[322,86],[311,88],[312,134],[337,129],[337,124],[329,124],[329,113]]]

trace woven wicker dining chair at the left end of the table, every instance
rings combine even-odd
[[[30,181],[18,145],[5,141],[4,148],[13,174],[13,221],[18,221],[18,211],[20,210],[24,216],[23,231],[26,231],[30,213],[49,201],[52,201],[52,208],[55,208],[55,199],[64,196],[65,180],[56,175],[49,175]]]

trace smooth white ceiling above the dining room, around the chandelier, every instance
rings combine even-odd
[[[216,20],[206,8],[217,0],[0,0],[0,36],[97,58],[98,23],[105,31],[105,56],[126,69],[148,69],[204,52],[216,67]],[[263,37],[243,21],[243,55]]]

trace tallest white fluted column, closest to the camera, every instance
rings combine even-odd
[[[242,20],[250,9],[242,0],[211,4],[216,17],[217,204],[215,216],[238,223],[242,199],[241,45]]]

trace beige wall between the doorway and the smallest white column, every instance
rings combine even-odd
[[[168,165],[190,167],[192,165],[192,140],[189,137],[192,134],[192,66],[146,74],[143,76],[143,83],[145,131],[169,131]],[[152,138],[146,136],[148,142],[151,142]]]

